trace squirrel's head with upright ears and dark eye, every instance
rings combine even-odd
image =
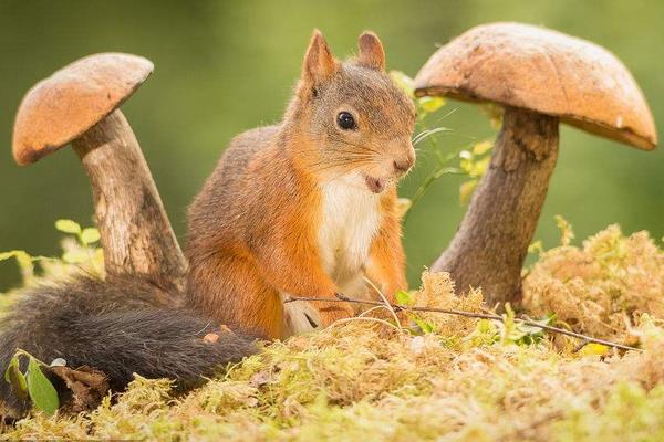
[[[294,155],[322,179],[349,178],[380,193],[415,162],[415,106],[385,72],[378,38],[364,32],[359,54],[338,61],[317,30],[286,125]]]

